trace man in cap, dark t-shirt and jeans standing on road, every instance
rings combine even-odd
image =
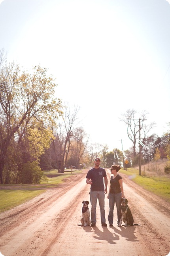
[[[90,202],[91,202],[91,227],[96,225],[96,205],[97,199],[100,206],[100,217],[102,226],[107,227],[104,210],[104,197],[107,194],[108,179],[106,171],[100,166],[100,158],[94,159],[94,167],[86,175],[86,183],[91,185]],[[103,182],[104,178],[104,182]],[[105,189],[104,189],[105,185]]]

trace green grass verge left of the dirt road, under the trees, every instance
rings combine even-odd
[[[56,187],[64,182],[63,179],[77,173],[81,173],[81,171],[73,171],[71,174],[71,171],[66,171],[66,173],[57,173],[57,171],[52,170],[45,172],[45,175],[56,176],[47,177],[48,182],[43,181],[41,184],[0,185],[0,213],[27,202],[28,200],[42,194],[49,188]]]

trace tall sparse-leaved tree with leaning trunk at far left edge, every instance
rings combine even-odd
[[[28,125],[37,119],[48,125],[50,117],[59,117],[61,102],[55,98],[56,84],[47,69],[36,66],[32,73],[21,71],[15,63],[0,70],[0,179],[13,142],[19,143]]]

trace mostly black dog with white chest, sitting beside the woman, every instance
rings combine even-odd
[[[119,221],[118,227],[121,226],[122,220],[125,222],[125,227],[133,226],[134,220],[132,213],[128,207],[128,200],[126,198],[121,199],[121,220]]]

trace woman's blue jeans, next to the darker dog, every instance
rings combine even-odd
[[[110,208],[109,215],[108,215],[109,224],[113,224],[113,210],[114,210],[115,204],[117,208],[117,223],[119,223],[121,219],[121,198],[122,198],[122,193],[118,193],[118,194],[109,193],[109,208]]]

